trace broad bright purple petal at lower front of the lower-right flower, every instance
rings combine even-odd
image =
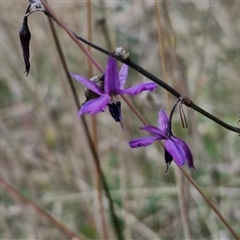
[[[173,160],[178,166],[182,166],[185,163],[185,153],[177,142],[175,142],[173,139],[167,139],[164,143],[165,149],[169,152],[169,154],[172,155]]]

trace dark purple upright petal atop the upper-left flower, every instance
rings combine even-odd
[[[109,57],[105,71],[104,91],[109,95],[117,95],[120,89],[117,63],[114,58]]]

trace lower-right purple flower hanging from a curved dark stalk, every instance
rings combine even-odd
[[[129,142],[129,145],[131,148],[145,147],[152,144],[155,140],[165,140],[164,150],[167,166],[174,160],[178,166],[184,165],[185,161],[187,161],[188,167],[194,168],[192,153],[188,145],[182,139],[172,134],[171,119],[174,109],[175,106],[170,117],[161,109],[158,114],[158,127],[145,126],[140,128],[149,132],[152,136],[133,139]]]

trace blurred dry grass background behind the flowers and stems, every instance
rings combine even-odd
[[[49,1],[75,32],[87,36],[85,1]],[[240,3],[237,1],[159,2],[169,84],[223,121],[237,125],[240,89]],[[18,37],[26,2],[0,2],[0,176],[85,239],[102,234],[96,171],[77,117],[73,97],[42,13],[29,17],[31,70],[24,75]],[[93,42],[107,48],[101,20],[106,19],[114,50],[162,78],[157,22],[152,1],[92,1]],[[87,76],[87,59],[56,26],[69,69]],[[107,57],[93,50],[104,67]],[[120,66],[120,65],[119,65]],[[94,74],[99,74],[94,69]],[[128,86],[145,81],[130,70]],[[84,87],[75,84],[79,99]],[[170,98],[171,103],[175,101]],[[131,98],[152,125],[165,91]],[[121,131],[106,113],[97,115],[99,156],[126,239],[184,239],[173,164],[164,175],[162,149],[130,149],[142,126],[122,103]],[[185,108],[186,109],[186,108]],[[189,143],[196,170],[189,171],[240,235],[239,137],[187,110],[190,127],[174,115],[174,132]],[[88,121],[90,117],[86,116]],[[187,168],[187,167],[185,167]],[[182,179],[192,239],[233,239],[196,190]],[[114,238],[107,201],[107,231]],[[65,239],[65,235],[18,199],[0,189],[1,239]]]

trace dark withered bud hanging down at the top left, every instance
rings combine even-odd
[[[21,30],[19,31],[19,37],[20,37],[20,41],[21,41],[23,59],[24,59],[24,63],[25,63],[25,72],[26,72],[26,75],[28,76],[29,71],[30,71],[29,43],[30,43],[30,39],[31,39],[31,33],[28,28],[27,17],[24,17],[24,19],[23,19],[23,24],[22,24]]]

